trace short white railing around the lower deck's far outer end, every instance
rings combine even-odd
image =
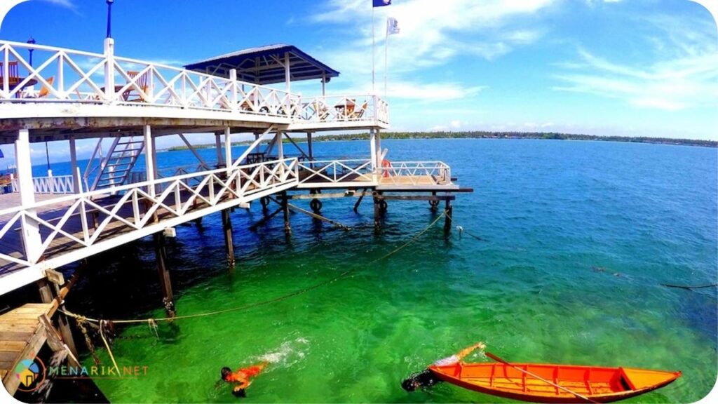
[[[379,170],[382,185],[452,185],[451,167],[441,161],[385,160]]]

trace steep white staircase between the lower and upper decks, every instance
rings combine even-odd
[[[144,139],[142,137],[118,137],[115,139],[107,157],[102,160],[100,173],[95,177],[90,189],[123,185],[143,149]]]

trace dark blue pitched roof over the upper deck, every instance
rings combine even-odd
[[[185,65],[187,70],[229,77],[229,70],[237,70],[237,78],[258,84],[282,83],[285,78],[285,55],[289,55],[292,81],[325,78],[329,81],[339,72],[312,58],[298,47],[286,44],[252,47]]]

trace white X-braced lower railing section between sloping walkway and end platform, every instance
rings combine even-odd
[[[348,183],[374,180],[371,160],[299,162],[299,183]]]

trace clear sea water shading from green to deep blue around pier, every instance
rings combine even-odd
[[[350,156],[367,146],[319,143],[316,150]],[[715,149],[508,139],[383,147],[391,160],[451,165],[461,185],[475,188],[457,198],[455,224],[481,240],[455,230],[445,237],[440,221],[418,242],[368,265],[436,218],[427,203],[391,202],[376,235],[371,203],[354,214],[355,199],[325,201],[325,216],[355,229],[294,214],[291,237],[279,216],[246,230],[261,218],[256,204],[233,214],[240,261],[229,272],[218,215],[202,230],[180,226],[170,247],[180,314],[241,306],[355,272],[273,305],[163,323],[157,337],[146,324],[123,328],[113,346],[118,364],[147,365],[149,373],[97,380],[104,394],[127,403],[236,402],[229,385],[215,388],[220,368],[268,360],[243,401],[504,402],[447,384],[411,394],[399,386],[475,341],[514,362],[684,372],[629,402],[687,403],[713,387],[716,290],[660,283],[716,283]],[[168,165],[182,158],[160,155]],[[164,316],[152,257],[149,242],[118,253],[70,295],[68,307],[109,318]],[[115,286],[91,287],[103,282]],[[105,352],[101,357],[109,363]]]

